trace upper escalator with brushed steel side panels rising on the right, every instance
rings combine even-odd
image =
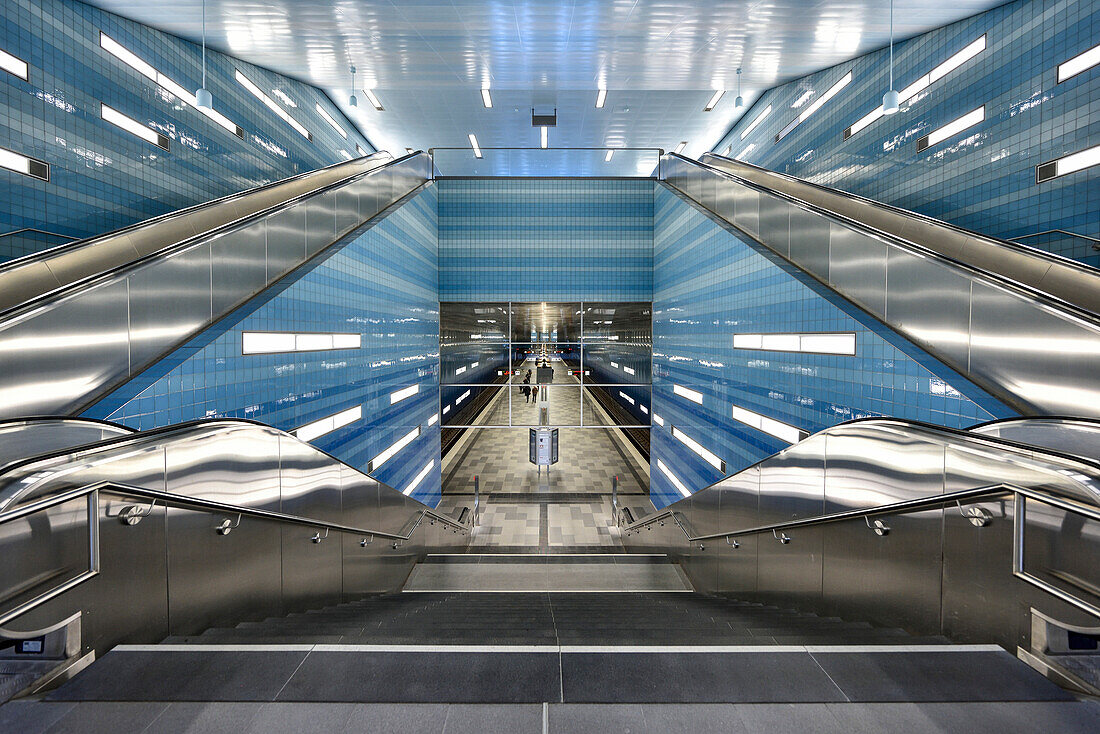
[[[664,184],[1025,416],[1100,417],[1100,271],[707,154]]]

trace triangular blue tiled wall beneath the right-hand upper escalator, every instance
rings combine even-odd
[[[733,418],[738,406],[806,432],[887,415],[966,427],[1012,415],[957,373],[818,292],[663,185],[653,232],[653,465],[692,491],[722,473],[672,438],[683,430],[734,473],[789,443]],[[826,297],[828,296],[828,297]],[[856,355],[735,349],[735,333],[851,332]],[[702,404],[673,392],[680,385]],[[654,418],[656,421],[656,418]],[[681,499],[652,472],[652,500]]]

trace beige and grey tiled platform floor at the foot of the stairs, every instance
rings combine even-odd
[[[527,362],[520,369],[534,368]],[[556,381],[565,366],[553,363]],[[581,415],[581,390],[553,385],[547,401],[551,424],[576,424]],[[590,398],[583,398],[586,403]],[[588,412],[597,410],[591,403]],[[507,425],[537,423],[534,402],[526,402],[519,388],[501,393],[476,423]],[[481,518],[471,548],[522,552],[612,551],[623,545],[612,510],[612,483],[618,478],[620,506],[646,507],[649,479],[646,468],[616,440],[615,428],[560,428],[559,461],[549,471],[539,471],[528,457],[529,428],[472,428],[461,441],[457,456],[448,458],[443,470],[443,500],[449,512],[472,505],[474,476],[481,489]]]

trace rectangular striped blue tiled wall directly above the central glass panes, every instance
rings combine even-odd
[[[650,300],[647,179],[441,179],[440,300]]]

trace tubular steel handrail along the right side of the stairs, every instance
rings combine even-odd
[[[651,526],[653,523],[658,523],[664,519],[671,519],[676,524],[680,530],[684,534],[688,543],[700,544],[700,549],[703,550],[703,541],[705,540],[716,540],[718,538],[725,538],[726,544],[733,548],[740,547],[737,541],[738,537],[747,535],[760,535],[762,533],[771,533],[772,536],[787,545],[791,543],[791,538],[785,534],[785,530],[792,530],[801,527],[812,527],[817,525],[828,525],[832,523],[840,523],[844,521],[864,518],[867,521],[867,525],[877,535],[887,535],[890,532],[890,527],[878,523],[871,525],[870,519],[872,517],[879,517],[882,515],[901,515],[909,514],[913,512],[921,512],[924,510],[931,510],[933,507],[939,507],[944,505],[949,505],[955,503],[959,507],[959,512],[966,517],[972,525],[977,527],[985,527],[992,522],[992,517],[983,511],[981,507],[972,507],[969,512],[963,510],[964,501],[974,501],[985,497],[997,496],[1001,494],[1013,495],[1015,502],[1015,508],[1013,512],[1013,544],[1012,544],[1012,574],[1022,581],[1025,581],[1043,591],[1057,596],[1062,601],[1076,606],[1079,610],[1088,612],[1097,617],[1100,617],[1100,606],[1096,604],[1090,604],[1089,602],[1079,599],[1057,587],[1040,579],[1038,577],[1032,576],[1024,568],[1024,529],[1026,527],[1026,501],[1035,500],[1046,505],[1064,510],[1066,512],[1075,513],[1081,515],[1092,521],[1100,522],[1100,510],[1096,507],[1090,507],[1088,505],[1075,502],[1072,500],[1066,500],[1059,497],[1055,494],[1048,492],[1043,492],[1040,490],[1033,490],[1023,486],[1016,486],[1014,484],[991,484],[988,486],[979,486],[970,490],[959,490],[956,492],[945,492],[943,494],[936,494],[928,497],[919,497],[916,500],[904,500],[902,502],[892,502],[886,505],[876,505],[873,507],[864,507],[859,510],[846,510],[838,513],[829,513],[826,515],[817,515],[815,517],[803,517],[801,519],[792,519],[783,523],[772,523],[770,525],[757,525],[755,527],[739,528],[736,530],[729,530],[726,533],[711,533],[707,535],[692,535],[684,524],[679,518],[679,514],[674,510],[666,510],[649,517],[642,518],[632,525],[628,525],[623,528],[623,533],[626,535],[636,534],[647,526]]]

